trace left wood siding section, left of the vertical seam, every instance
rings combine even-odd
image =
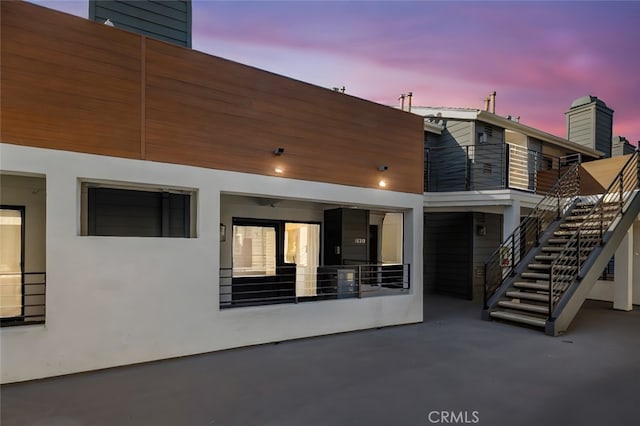
[[[140,38],[1,2],[3,142],[137,158]]]

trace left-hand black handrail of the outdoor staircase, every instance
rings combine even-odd
[[[521,251],[539,243],[549,225],[560,218],[577,197],[580,189],[580,163],[573,163],[551,189],[543,196],[520,225],[506,237],[484,264],[484,309],[489,298],[513,274],[520,263]],[[533,235],[532,235],[533,234]],[[527,238],[533,237],[534,238]]]

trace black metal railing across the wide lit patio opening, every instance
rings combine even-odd
[[[253,277],[220,268],[220,308],[405,294],[409,277],[409,264],[284,266]]]

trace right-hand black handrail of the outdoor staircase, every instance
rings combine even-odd
[[[549,319],[553,319],[554,308],[561,302],[562,297],[580,277],[581,267],[591,251],[604,242],[606,233],[624,214],[624,207],[640,188],[640,151],[629,157],[618,174],[613,178],[605,192],[598,198],[591,210],[584,215],[585,220],[580,223],[575,234],[563,246],[558,257],[551,262],[549,271]],[[615,208],[609,210],[609,219],[605,220],[604,204],[615,201]],[[606,224],[605,222],[609,221]],[[586,232],[585,224],[599,223],[597,232]]]

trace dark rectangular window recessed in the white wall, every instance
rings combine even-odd
[[[191,194],[89,187],[87,234],[191,237]]]

